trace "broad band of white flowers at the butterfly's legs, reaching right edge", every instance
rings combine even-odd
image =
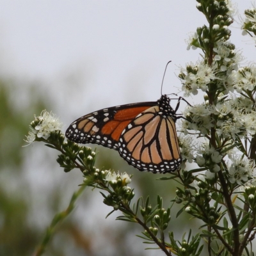
[[[211,127],[223,138],[239,135],[240,138],[256,134],[256,112],[253,103],[246,97],[232,97],[220,100],[216,106],[196,104],[187,106],[182,120],[181,130],[188,134],[188,130],[199,131],[205,135]]]

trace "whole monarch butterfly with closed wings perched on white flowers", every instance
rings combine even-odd
[[[180,100],[179,100],[180,102]],[[170,98],[100,109],[72,122],[66,137],[77,143],[96,143],[118,150],[140,171],[174,172],[182,163]]]

